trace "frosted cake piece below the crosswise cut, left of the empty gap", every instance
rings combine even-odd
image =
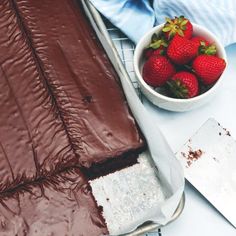
[[[107,235],[101,211],[81,172],[72,169],[0,195],[0,235]]]

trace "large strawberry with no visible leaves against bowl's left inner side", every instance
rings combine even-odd
[[[165,56],[150,57],[143,67],[144,81],[153,87],[163,85],[174,73],[174,66]]]

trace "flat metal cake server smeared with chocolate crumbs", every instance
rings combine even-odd
[[[186,179],[236,227],[236,141],[209,119],[177,153]]]

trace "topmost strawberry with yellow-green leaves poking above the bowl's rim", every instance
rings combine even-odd
[[[190,39],[193,33],[193,26],[184,16],[175,17],[174,19],[166,18],[166,23],[162,31],[168,40],[176,34]]]

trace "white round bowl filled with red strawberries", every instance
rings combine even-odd
[[[188,111],[219,90],[227,65],[224,46],[184,16],[166,19],[138,42],[134,70],[142,93],[170,111]]]

